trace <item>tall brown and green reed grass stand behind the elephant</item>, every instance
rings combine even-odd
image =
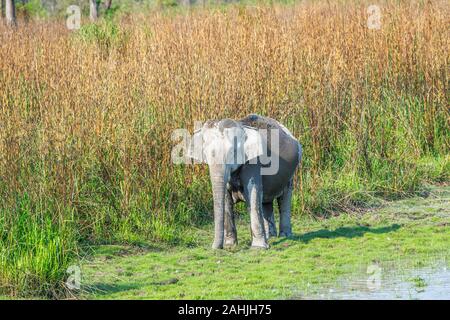
[[[185,244],[210,222],[206,168],[176,128],[260,113],[304,146],[295,216],[449,181],[446,2],[152,12],[0,26],[0,288],[64,296],[85,244]]]

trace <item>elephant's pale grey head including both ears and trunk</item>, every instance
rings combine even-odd
[[[231,173],[244,163],[256,163],[262,153],[258,130],[231,119],[207,121],[194,132],[188,156],[209,166],[214,199],[213,248],[223,247],[225,193]]]

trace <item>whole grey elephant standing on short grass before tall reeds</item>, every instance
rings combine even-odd
[[[274,119],[251,114],[240,120],[208,120],[188,146],[188,158],[209,166],[214,200],[214,249],[237,245],[234,205],[250,214],[252,248],[268,248],[277,236],[273,203],[280,211],[279,236],[289,237],[293,177],[302,146]]]

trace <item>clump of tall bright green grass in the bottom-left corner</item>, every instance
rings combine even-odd
[[[62,296],[66,268],[77,256],[73,221],[52,221],[48,211],[55,208],[33,204],[26,194],[16,205],[13,221],[0,212],[0,290],[12,296]]]

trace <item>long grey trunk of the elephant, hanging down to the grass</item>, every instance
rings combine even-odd
[[[228,181],[226,166],[210,165],[213,199],[214,199],[214,242],[213,249],[222,249],[224,241],[225,192]]]

